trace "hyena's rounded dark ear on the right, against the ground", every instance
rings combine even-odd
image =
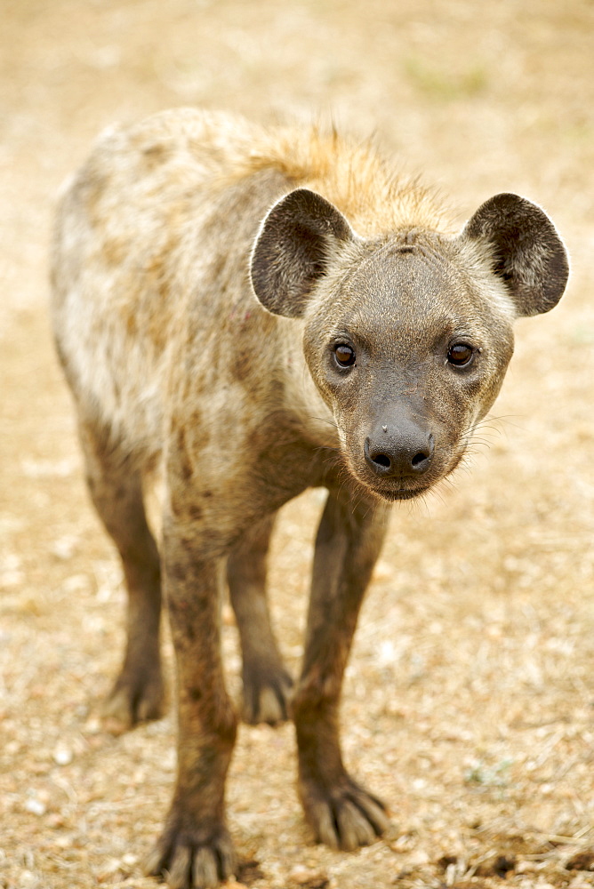
[[[536,204],[518,195],[495,195],[467,222],[464,238],[485,244],[518,316],[539,315],[557,305],[569,262],[557,229]]]

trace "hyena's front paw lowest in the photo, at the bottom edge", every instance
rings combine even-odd
[[[165,829],[145,862],[150,877],[163,877],[170,889],[216,889],[237,869],[226,828]]]

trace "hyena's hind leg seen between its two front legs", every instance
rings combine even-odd
[[[227,563],[231,605],[243,657],[245,722],[276,725],[288,718],[293,679],[287,673],[270,623],[266,567],[275,515],[247,531]]]

